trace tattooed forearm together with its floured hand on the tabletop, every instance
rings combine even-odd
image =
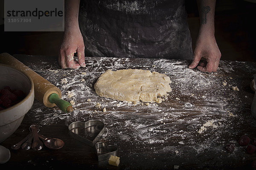
[[[203,72],[216,72],[221,52],[214,36],[215,0],[198,0],[200,29],[195,45],[194,58],[189,68],[197,68]],[[206,60],[200,62],[201,58]]]

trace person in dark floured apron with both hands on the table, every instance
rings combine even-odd
[[[189,68],[215,72],[221,58],[215,0],[197,3],[200,29],[193,53],[185,0],[65,0],[59,64],[85,67],[84,56],[191,59]]]

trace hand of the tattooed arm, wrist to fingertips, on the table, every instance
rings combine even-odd
[[[200,62],[204,57],[206,61]],[[221,52],[218,48],[215,37],[198,37],[195,46],[194,58],[189,68],[195,68],[198,65],[198,70],[203,72],[216,72],[219,61],[221,58]]]

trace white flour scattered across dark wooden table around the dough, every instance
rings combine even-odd
[[[47,64],[51,67],[50,63]],[[239,93],[232,93],[229,85],[235,84],[241,89],[243,85],[234,76],[230,79],[224,69],[217,73],[202,73],[188,69],[186,61],[158,59],[139,65],[126,58],[112,61],[112,58],[102,57],[88,60],[87,65],[82,70],[86,74],[81,74],[80,69],[72,72],[58,70],[53,65],[51,70],[61,72],[58,76],[55,71],[35,68],[61,89],[65,94],[63,99],[76,101],[76,109],[73,113],[63,113],[57,108],[49,110],[35,101],[27,116],[33,116],[35,123],[41,125],[49,125],[59,119],[65,119],[67,126],[75,121],[100,119],[108,129],[104,139],[123,150],[136,146],[137,152],[162,154],[168,150],[168,153],[180,157],[186,154],[186,150],[198,155],[204,154],[206,150],[222,154],[227,136],[236,136],[237,127],[245,124],[246,120],[241,116],[244,109],[249,108],[245,100],[249,101],[253,97],[253,94],[244,92],[241,99],[237,96]],[[226,61],[220,62],[220,68],[227,67]],[[99,75],[108,69],[119,68],[148,68],[150,71],[165,73],[172,79],[172,95],[161,103],[143,105],[97,96],[93,83]],[[233,73],[232,70],[229,69],[230,73]],[[68,78],[63,78],[67,75]],[[60,84],[59,79],[62,80]],[[81,82],[81,79],[84,81]],[[248,118],[248,115],[245,117]]]

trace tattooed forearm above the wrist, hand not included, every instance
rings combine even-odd
[[[216,0],[197,0],[200,16],[200,34],[214,37],[214,13]]]

